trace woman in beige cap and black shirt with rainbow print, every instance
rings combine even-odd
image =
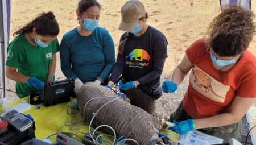
[[[132,105],[154,113],[155,101],[162,96],[160,76],[167,56],[167,40],[162,32],[148,26],[141,1],[127,1],[121,9],[122,35],[108,87],[112,88],[122,74],[119,88]]]

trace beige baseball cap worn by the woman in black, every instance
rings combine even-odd
[[[138,20],[146,14],[143,3],[139,0],[130,0],[121,8],[122,21],[118,30],[133,31],[138,24]]]

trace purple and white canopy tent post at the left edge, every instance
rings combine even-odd
[[[7,88],[7,78],[5,75],[5,62],[6,59],[10,59],[13,54],[7,53],[7,45],[9,44],[10,34],[10,14],[11,14],[11,0],[0,0],[0,87]],[[6,90],[1,90],[1,98],[6,96]]]

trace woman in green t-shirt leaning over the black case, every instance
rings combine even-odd
[[[7,47],[6,77],[16,81],[19,98],[42,90],[44,82],[53,81],[59,31],[55,15],[49,12],[14,32],[16,37]]]

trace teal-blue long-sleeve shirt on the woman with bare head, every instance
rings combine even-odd
[[[84,83],[100,78],[103,82],[115,63],[113,39],[104,28],[97,27],[89,36],[81,36],[75,28],[61,40],[60,61],[65,77]]]

